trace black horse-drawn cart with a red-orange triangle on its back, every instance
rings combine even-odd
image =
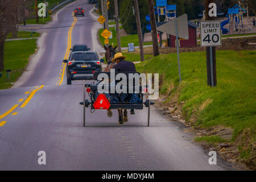
[[[97,109],[134,109],[134,110],[142,110],[143,107],[147,107],[148,109],[148,117],[147,117],[147,126],[150,125],[150,105],[153,105],[154,102],[150,102],[148,99],[144,99],[143,96],[148,95],[147,92],[147,85],[141,85],[139,84],[130,84],[129,81],[127,81],[127,85],[122,85],[121,89],[122,90],[127,90],[125,94],[127,94],[128,97],[126,97],[125,100],[122,102],[112,102],[110,100],[110,97],[113,95],[115,96],[116,94],[122,94],[122,93],[117,93],[116,84],[110,83],[102,83],[104,80],[100,78],[100,80],[97,80],[98,75],[101,73],[105,73],[106,75],[110,75],[110,72],[96,72],[93,75],[93,80],[96,80],[97,82],[93,82],[92,84],[83,84],[83,93],[84,93],[84,99],[82,102],[80,102],[80,105],[84,106],[84,127],[85,127],[85,110],[86,107],[90,107],[91,113],[93,113],[94,110]],[[138,72],[122,72],[126,76],[129,74],[139,74]],[[115,81],[114,81],[115,83]],[[102,91],[104,90],[104,91]],[[114,90],[114,93],[111,92]],[[129,91],[129,92],[128,92]],[[85,95],[86,92],[89,95],[89,100],[86,99]],[[134,100],[134,98],[136,98]],[[144,99],[144,100],[143,100]]]

